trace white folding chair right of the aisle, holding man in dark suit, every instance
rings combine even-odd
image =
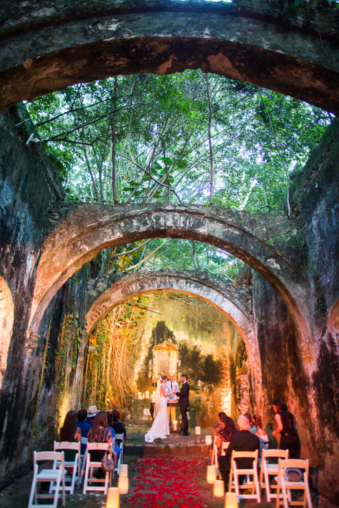
[[[252,468],[238,469],[236,459],[252,459],[253,461]],[[234,487],[238,499],[256,499],[257,503],[260,503],[260,489],[259,489],[257,465],[258,465],[258,450],[255,450],[255,452],[235,452],[235,450],[232,451],[231,471],[229,476],[229,492],[232,492],[232,487]],[[239,491],[241,491],[241,489],[249,489],[250,486],[246,484],[239,485],[238,476],[240,475],[246,476],[247,474],[253,476],[252,494],[240,494]]]

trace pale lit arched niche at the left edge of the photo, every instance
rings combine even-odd
[[[0,391],[7,367],[8,348],[14,321],[14,304],[8,285],[0,277]]]

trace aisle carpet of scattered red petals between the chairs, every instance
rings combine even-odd
[[[213,491],[206,483],[208,459],[177,459],[175,457],[144,457],[130,463],[130,475],[137,485],[130,495],[121,496],[128,507],[206,508]]]

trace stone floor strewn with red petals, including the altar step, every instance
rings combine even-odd
[[[204,444],[196,444],[196,435],[174,435],[166,440],[166,445],[164,442],[156,442],[154,449],[157,448],[158,452],[156,455],[148,455],[148,452],[139,453],[139,450],[145,450],[145,429],[147,430],[142,426],[128,427],[126,445],[130,446],[124,463],[129,465],[130,490],[126,496],[121,496],[121,508],[224,508],[224,498],[215,498],[213,486],[206,481],[206,466],[209,463],[206,452],[200,456],[196,455],[196,450],[191,450],[193,455],[184,457],[180,457],[180,453],[171,452],[172,446],[181,450],[189,450],[190,446],[204,447]],[[208,433],[211,433],[211,429],[202,429],[200,439],[204,439]],[[169,451],[165,446],[169,446]],[[133,448],[135,452],[132,451]],[[31,471],[3,489],[0,492],[0,508],[27,508],[32,476]],[[117,486],[117,476],[113,479],[112,486]],[[82,489],[75,489],[73,496],[66,496],[66,506],[71,505],[72,508],[104,508],[105,502],[104,494],[93,492],[84,496]],[[49,501],[41,500],[40,503]],[[316,493],[312,493],[312,505],[314,508],[335,508]],[[58,504],[60,506],[61,503]],[[275,503],[267,503],[264,496],[259,505],[250,500],[242,502],[239,508],[254,506],[270,508],[275,507]]]

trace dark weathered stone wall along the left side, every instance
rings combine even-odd
[[[16,127],[18,125],[18,127]],[[29,144],[32,124],[24,110],[0,116],[0,276],[13,301],[14,322],[0,398],[0,485],[32,463],[30,436],[48,327],[41,328],[38,350],[25,348],[30,302],[48,208],[63,192],[43,149]],[[56,309],[60,295],[55,298]],[[58,328],[58,318],[50,330]]]

